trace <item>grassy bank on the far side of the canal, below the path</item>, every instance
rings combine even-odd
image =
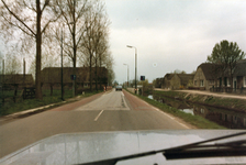
[[[233,99],[233,98],[222,98],[222,97],[213,97],[206,95],[194,95],[179,91],[154,91],[155,95],[178,98],[180,100],[186,100],[188,102],[205,105],[216,108],[230,109],[239,112],[246,112],[246,101],[243,99]]]

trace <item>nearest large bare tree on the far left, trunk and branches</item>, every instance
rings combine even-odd
[[[42,57],[42,37],[51,22],[55,22],[58,16],[55,16],[51,10],[51,0],[1,0],[1,30],[4,36],[13,36],[21,34],[20,41],[23,44],[23,50],[27,51],[36,44],[36,70],[35,70],[35,87],[36,98],[42,99],[41,90],[41,57]],[[27,46],[26,46],[27,45]]]

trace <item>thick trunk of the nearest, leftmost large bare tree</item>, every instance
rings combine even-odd
[[[41,34],[41,16],[42,11],[40,7],[40,0],[36,0],[36,99],[42,99],[42,90],[41,90],[41,45],[42,45],[42,34]]]

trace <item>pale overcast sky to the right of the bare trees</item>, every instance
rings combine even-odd
[[[190,74],[222,40],[246,52],[245,0],[104,0],[115,79],[135,76],[149,81],[176,69]]]

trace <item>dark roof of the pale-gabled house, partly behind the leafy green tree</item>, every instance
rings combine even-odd
[[[216,72],[216,64],[211,64],[211,63],[202,63],[201,65],[198,66],[200,67],[205,76],[205,79],[214,79],[215,77],[215,72]]]

